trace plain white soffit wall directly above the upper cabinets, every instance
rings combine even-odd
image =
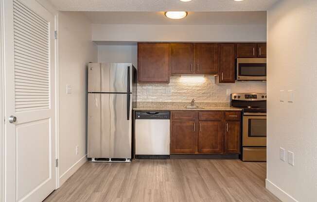
[[[266,25],[93,24],[93,41],[266,41]]]

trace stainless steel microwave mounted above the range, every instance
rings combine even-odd
[[[266,81],[266,58],[238,58],[237,81]]]

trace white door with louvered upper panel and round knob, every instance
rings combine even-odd
[[[4,28],[5,199],[41,202],[56,182],[54,16],[35,0],[4,0]]]

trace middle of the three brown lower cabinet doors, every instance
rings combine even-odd
[[[223,152],[223,122],[199,121],[198,152],[222,153]]]

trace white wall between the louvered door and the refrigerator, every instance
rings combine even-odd
[[[91,24],[83,14],[59,12],[58,23],[62,184],[86,161],[87,66],[97,61],[97,45],[91,41]],[[71,94],[66,94],[67,84],[71,85]]]

